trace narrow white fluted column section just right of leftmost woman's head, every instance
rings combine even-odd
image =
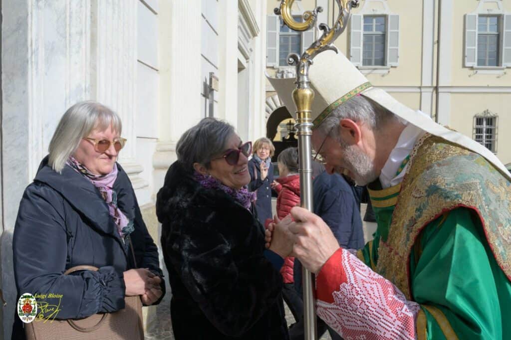
[[[136,153],[137,1],[92,0],[91,95],[117,112],[128,142],[119,161],[139,193],[148,187]]]

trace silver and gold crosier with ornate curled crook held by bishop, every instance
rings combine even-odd
[[[298,56],[292,53],[288,56],[288,64],[296,66],[296,88],[293,90],[293,102],[296,106],[296,130],[298,131],[298,154],[299,173],[300,173],[300,202],[301,206],[313,210],[312,207],[312,119],[311,107],[314,101],[314,90],[310,87],[309,66],[312,65],[312,59],[319,53],[327,50],[333,50],[336,53],[337,47],[333,44],[335,39],[344,32],[347,23],[350,20],[351,9],[358,7],[358,0],[335,0],[339,7],[339,15],[333,28],[329,28],[326,23],[321,23],[319,29],[323,31],[321,37],[314,41],[307,50]],[[276,15],[282,16],[287,27],[294,31],[306,31],[314,27],[317,13],[322,12],[321,7],[316,7],[313,11],[306,11],[302,17],[304,22],[295,21],[292,16],[291,7],[294,0],[281,0],[281,5],[275,8]],[[303,288],[304,288],[304,328],[305,339],[316,340],[316,301],[314,296],[314,276],[311,272],[303,269]]]

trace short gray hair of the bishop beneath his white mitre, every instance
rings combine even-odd
[[[361,94],[354,96],[346,103],[335,108],[315,130],[318,130],[324,135],[331,132],[331,136],[337,136],[339,134],[339,129],[334,129],[334,127],[338,127],[341,119],[345,118],[352,119],[354,122],[364,122],[373,131],[385,127],[392,121],[406,124],[406,122],[397,115]]]

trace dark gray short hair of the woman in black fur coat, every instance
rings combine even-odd
[[[176,145],[177,160],[190,171],[193,171],[194,163],[209,169],[211,160],[221,156],[227,140],[235,133],[234,127],[224,120],[202,118],[179,138]]]

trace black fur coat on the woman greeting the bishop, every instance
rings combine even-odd
[[[288,339],[282,276],[264,255],[257,218],[183,165],[169,168],[156,213],[172,287],[174,335],[184,339]]]

